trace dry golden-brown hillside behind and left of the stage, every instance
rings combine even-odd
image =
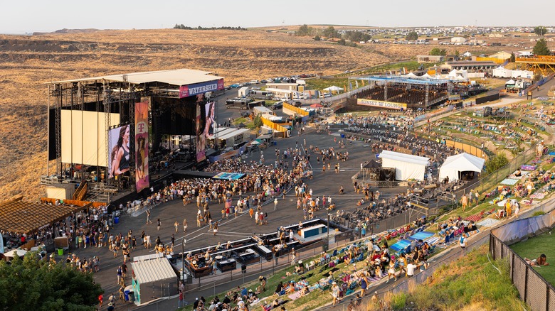
[[[190,68],[226,84],[387,62],[361,48],[264,31],[133,30],[0,36],[0,200],[43,195],[47,82]]]

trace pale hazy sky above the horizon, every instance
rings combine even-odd
[[[553,23],[555,1],[536,1],[535,5],[541,9],[534,7],[532,11],[519,9],[523,4],[522,0],[4,1],[0,33],[51,32],[63,28],[172,28],[176,23],[191,27],[304,23],[380,27],[550,26]]]

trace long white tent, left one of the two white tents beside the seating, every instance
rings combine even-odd
[[[406,153],[381,151],[381,166],[395,168],[396,180],[424,180],[425,168],[430,158]]]

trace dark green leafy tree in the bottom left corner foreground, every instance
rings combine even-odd
[[[0,306],[9,306],[1,310],[96,310],[103,290],[93,273],[65,263],[49,266],[36,256],[36,252],[16,256],[11,265],[0,261]]]

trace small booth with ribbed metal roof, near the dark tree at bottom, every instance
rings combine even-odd
[[[164,254],[134,257],[131,269],[132,292],[127,296],[135,305],[178,293],[179,278]]]

